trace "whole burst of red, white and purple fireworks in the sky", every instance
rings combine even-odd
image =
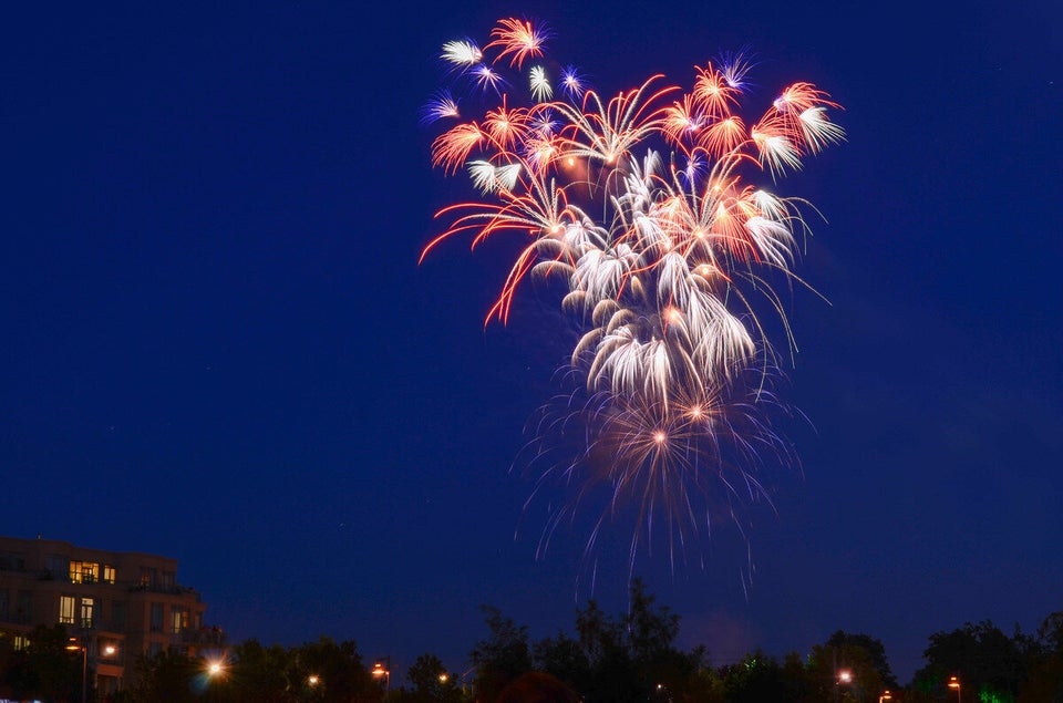
[[[760,471],[791,459],[771,424],[781,374],[754,298],[778,314],[793,350],[770,281],[802,282],[792,269],[808,228],[802,200],[747,179],[774,184],[843,141],[827,115],[838,105],[799,82],[746,122],[736,114],[750,85],[745,53],[695,66],[685,93],[653,75],[605,99],[576,68],[555,75],[541,62],[541,25],[503,19],[489,39],[483,49],[443,44],[455,85],[424,120],[457,122],[435,138],[432,164],[467,170],[483,197],[436,215],[453,219],[422,261],[457,235],[473,247],[502,232],[523,238],[487,321],[508,319],[529,277],[567,286],[561,307],[584,331],[566,375],[580,387],[539,423],[545,468],[533,497],[547,486],[569,494],[540,551],[599,499],[588,556],[608,523],[633,514],[629,569],[661,530],[674,566],[720,516],[770,502]],[[523,75],[506,76],[506,64]],[[458,94],[479,108],[460,106]],[[555,462],[551,437],[566,434],[580,446]]]

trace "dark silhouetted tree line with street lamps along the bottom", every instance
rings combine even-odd
[[[209,658],[162,652],[132,666],[126,688],[87,700],[110,703],[379,702],[520,703],[558,701],[690,703],[855,703],[980,701],[1063,702],[1063,611],[1040,628],[1009,635],[991,621],[931,634],[926,665],[901,686],[885,647],[865,633],[837,631],[807,653],[763,651],[713,665],[704,647],[679,649],[680,617],[631,585],[627,612],[595,601],[576,612],[571,633],[532,640],[494,607],[483,607],[486,635],[469,651],[465,676],[434,654],[406,672],[363,661],[353,641],[320,638],[298,647],[246,640]],[[81,700],[81,657],[65,651],[62,627],[40,627],[13,651],[0,638],[0,699]],[[91,674],[91,672],[90,672]],[[404,675],[403,675],[404,674]],[[89,678],[92,680],[91,675]]]

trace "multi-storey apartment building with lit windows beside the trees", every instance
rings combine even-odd
[[[101,693],[121,689],[142,654],[221,648],[220,628],[203,623],[206,609],[177,582],[176,559],[0,537],[0,637],[20,649],[34,627],[66,626]]]

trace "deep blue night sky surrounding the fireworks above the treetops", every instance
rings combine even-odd
[[[154,3],[148,3],[153,6]],[[419,111],[443,42],[500,17],[605,94],[749,45],[751,101],[807,80],[847,142],[777,190],[827,223],[798,267],[799,467],[642,576],[713,663],[1063,609],[1063,22],[1050,0],[801,4],[22,3],[0,53],[0,534],[179,560],[234,642],[353,639],[454,671],[493,604],[533,638],[594,596],[584,536],[535,549],[510,471],[571,323],[453,241]],[[394,9],[392,9],[394,8]],[[777,340],[781,342],[781,340]],[[519,529],[518,529],[519,527]],[[608,558],[612,561],[608,561]],[[398,681],[396,681],[398,683]]]

